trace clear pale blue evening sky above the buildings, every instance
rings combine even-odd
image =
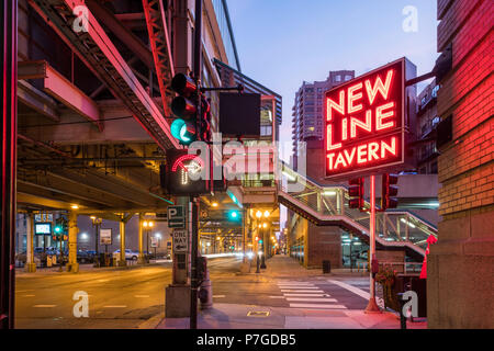
[[[436,53],[436,0],[227,0],[242,71],[283,97],[281,140],[302,82],[330,70],[356,75],[406,56],[428,72]],[[417,31],[402,27],[407,5]],[[423,84],[424,86],[424,84]]]

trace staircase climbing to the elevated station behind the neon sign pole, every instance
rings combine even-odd
[[[338,226],[369,244],[370,204],[366,212],[348,207],[348,190],[344,185],[321,185],[299,174],[284,162],[283,181],[279,182],[278,201],[301,217],[317,226]],[[409,211],[378,212],[375,244],[378,249],[404,249],[423,259],[429,235],[437,237],[437,228]]]

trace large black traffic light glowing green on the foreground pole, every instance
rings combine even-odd
[[[192,78],[177,73],[171,80],[171,89],[179,94],[171,101],[171,111],[178,117],[170,125],[171,135],[180,144],[189,145],[198,139],[198,86]]]

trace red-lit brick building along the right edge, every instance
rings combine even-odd
[[[491,0],[438,0],[438,242],[428,257],[429,328],[494,328],[494,121]],[[452,136],[445,140],[448,123]]]

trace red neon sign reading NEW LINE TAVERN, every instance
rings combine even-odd
[[[405,59],[326,92],[326,177],[404,163]]]

